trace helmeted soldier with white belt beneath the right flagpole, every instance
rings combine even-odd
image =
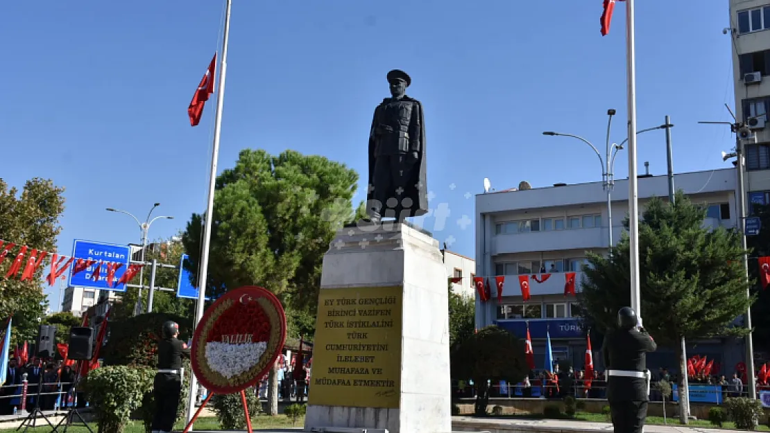
[[[641,433],[647,418],[650,394],[648,351],[658,345],[628,307],[618,311],[618,329],[604,337],[604,365],[607,368],[607,399],[616,433]]]

